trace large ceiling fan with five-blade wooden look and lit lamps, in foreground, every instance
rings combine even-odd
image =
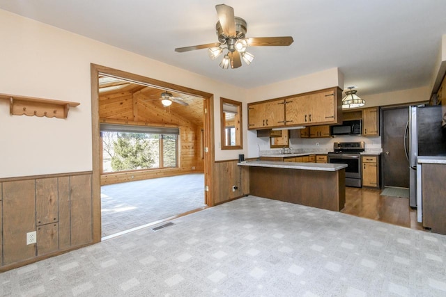
[[[220,67],[227,69],[229,65],[231,65],[231,68],[240,67],[242,65],[241,58],[247,65],[251,64],[254,55],[246,51],[247,47],[288,46],[293,43],[291,36],[246,38],[247,23],[245,19],[235,17],[231,6],[219,4],[215,6],[215,9],[219,19],[215,25],[219,42],[192,47],[178,47],[175,51],[183,53],[184,51],[208,48],[208,55],[214,60],[226,49]]]

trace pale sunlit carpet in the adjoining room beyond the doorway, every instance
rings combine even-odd
[[[203,173],[102,186],[102,237],[201,207],[206,207]]]

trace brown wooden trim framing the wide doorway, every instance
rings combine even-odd
[[[118,77],[125,80],[135,81],[143,83],[147,86],[156,86],[165,90],[176,91],[185,93],[187,95],[193,95],[202,97],[203,100],[203,113],[204,113],[204,145],[208,147],[208,153],[205,154],[204,160],[204,172],[205,183],[209,187],[209,191],[205,191],[205,202],[208,206],[213,206],[213,161],[215,160],[214,152],[214,122],[213,122],[213,94],[203,92],[201,90],[195,90],[184,86],[179,86],[174,83],[168,83],[166,81],[160,81],[157,79],[151,79],[143,77],[138,74],[132,74],[122,70],[116,70],[110,67],[97,65],[91,63],[91,129],[92,129],[92,166],[93,166],[93,242],[98,243],[101,241],[101,203],[100,203],[100,118],[99,118],[99,81],[98,75],[105,74],[112,77]]]

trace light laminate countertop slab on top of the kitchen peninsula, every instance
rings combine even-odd
[[[237,163],[239,166],[255,166],[268,168],[287,168],[300,170],[317,170],[317,171],[338,171],[346,168],[346,164],[332,163],[299,163],[299,162],[283,162],[283,161],[245,161]]]

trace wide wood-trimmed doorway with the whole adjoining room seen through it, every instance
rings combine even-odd
[[[212,95],[91,70],[94,241],[212,206]]]

